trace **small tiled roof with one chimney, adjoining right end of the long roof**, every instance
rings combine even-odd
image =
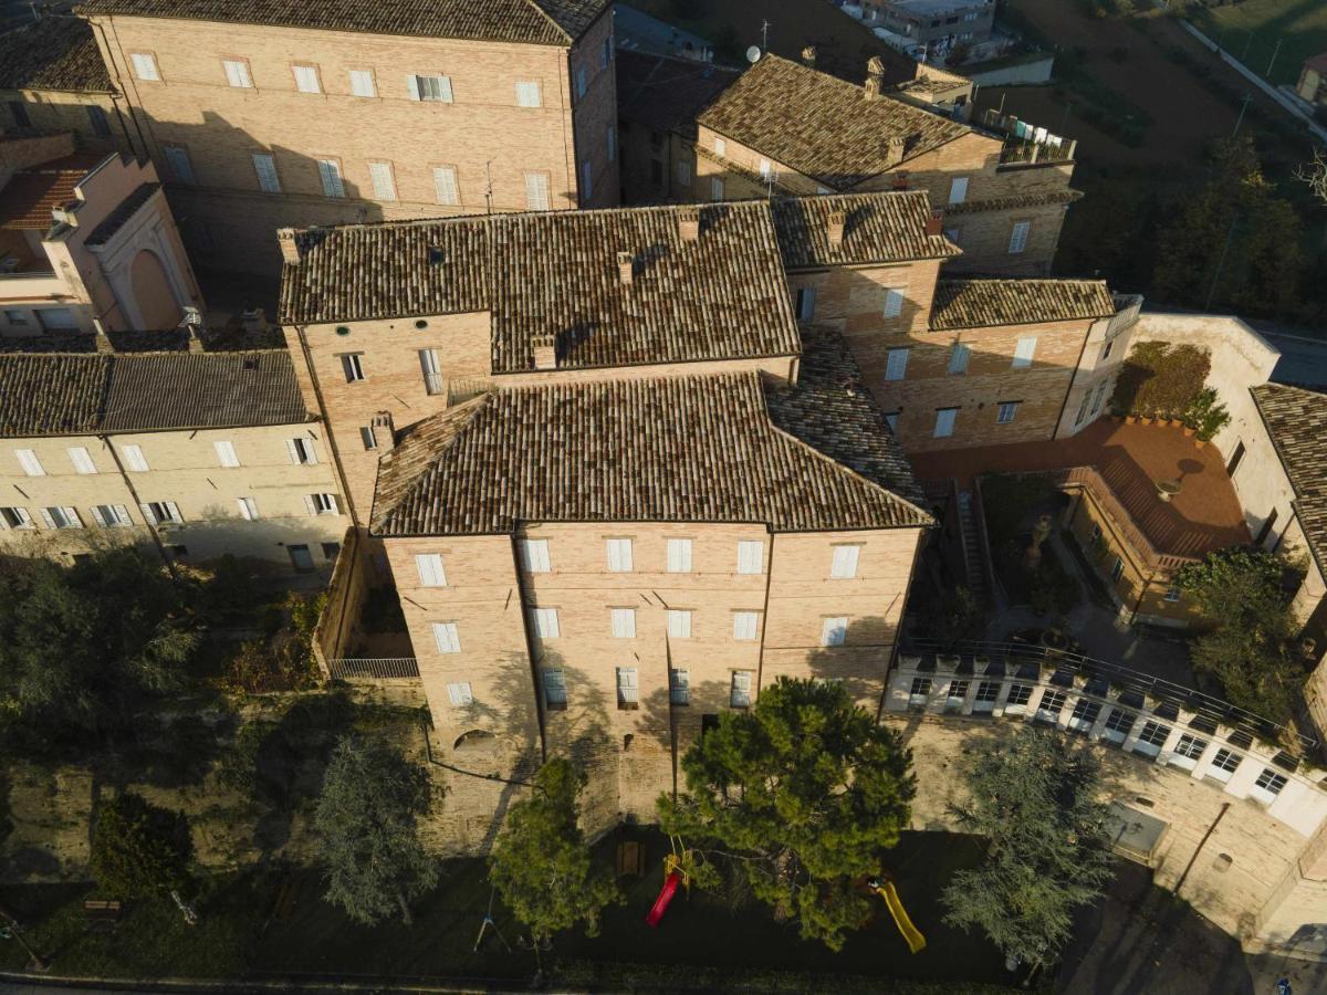
[[[829,247],[829,215],[844,215],[843,243]],[[788,269],[864,265],[962,253],[943,235],[928,235],[930,200],[924,191],[780,198],[774,224]]]

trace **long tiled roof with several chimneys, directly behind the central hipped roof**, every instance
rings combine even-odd
[[[492,369],[533,369],[552,336],[559,367],[794,356],[798,329],[774,220],[748,200],[556,211],[303,232],[281,281],[283,321],[313,324],[488,310]],[[617,253],[636,257],[624,284]],[[500,265],[494,260],[500,260]]]

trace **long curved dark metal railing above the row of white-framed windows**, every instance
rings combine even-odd
[[[977,658],[982,657],[993,663],[1002,665],[1009,678],[1016,678],[1016,667],[1023,663],[1036,663],[1038,667],[1047,666],[1056,673],[1083,675],[1089,679],[1104,678],[1113,687],[1123,691],[1135,691],[1145,698],[1154,699],[1157,703],[1184,708],[1186,712],[1192,712],[1194,716],[1205,719],[1209,723],[1247,732],[1267,743],[1283,744],[1292,742],[1304,752],[1316,750],[1318,747],[1316,739],[1306,736],[1289,726],[1265,719],[1251,711],[1245,711],[1230,702],[1213,698],[1193,687],[1177,685],[1154,674],[1145,674],[1141,670],[1132,670],[1120,663],[1111,663],[1109,661],[1097,659],[1082,653],[1020,642],[983,642],[979,639],[946,642],[942,639],[905,637],[900,643],[900,657],[909,654],[932,657],[932,667],[934,666],[936,657],[959,657],[966,667],[971,667],[971,673],[975,673]],[[925,663],[924,669],[926,669]],[[1136,710],[1147,711],[1147,708]],[[1156,708],[1152,707],[1151,711],[1154,712]]]

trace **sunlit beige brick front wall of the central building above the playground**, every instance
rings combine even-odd
[[[730,707],[733,673],[751,674],[752,699],[779,675],[843,679],[878,707],[894,631],[918,545],[918,529],[770,535],[763,525],[544,524],[523,536],[548,540],[548,573],[516,569],[507,536],[389,539],[391,572],[449,763],[487,764],[510,776],[540,750],[591,768],[587,823],[621,815],[653,819],[673,787],[673,751],[699,735],[701,718]],[[606,566],[606,537],[630,537],[633,570]],[[667,572],[667,540],[691,540],[691,570]],[[759,574],[739,574],[738,543],[763,543]],[[860,545],[857,576],[831,580],[835,544]],[[417,553],[441,553],[446,588],[421,588]],[[557,637],[539,638],[525,614],[557,610]],[[632,609],[634,637],[617,637],[613,609]],[[690,635],[669,635],[669,609],[690,612]],[[734,613],[754,612],[756,638],[734,638]],[[820,645],[825,618],[848,620],[843,646]],[[455,622],[459,653],[438,653],[431,622]],[[535,667],[531,667],[529,650]],[[543,708],[540,667],[560,667],[565,710]],[[618,669],[634,669],[638,707],[618,707]],[[690,703],[671,706],[669,667],[686,670]],[[447,683],[468,682],[474,704],[450,703]],[[471,731],[495,739],[470,738]],[[494,817],[492,792],[453,783],[470,817]],[[487,808],[486,808],[487,807]]]

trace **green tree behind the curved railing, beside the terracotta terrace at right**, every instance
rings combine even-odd
[[[1283,556],[1234,547],[1176,574],[1210,626],[1190,643],[1193,665],[1216,677],[1233,704],[1282,723],[1303,678],[1289,647],[1299,629],[1286,586],[1291,573]]]

